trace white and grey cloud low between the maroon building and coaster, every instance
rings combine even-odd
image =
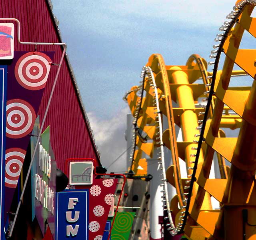
[[[100,160],[103,166],[108,167],[116,158],[126,151],[126,114],[130,113],[127,108],[122,109],[110,120],[98,118],[94,112],[88,112],[88,118],[93,130],[96,144],[100,151]],[[108,172],[120,172],[126,170],[126,153],[115,162]]]

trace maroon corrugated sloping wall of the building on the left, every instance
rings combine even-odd
[[[0,18],[17,18],[21,23],[20,39],[24,42],[60,42],[52,14],[46,0],[1,0]],[[15,51],[33,51],[32,45],[17,42]],[[54,63],[59,63],[62,47],[37,46],[37,51],[54,51]],[[40,120],[44,116],[58,66],[52,66],[40,104]],[[76,87],[65,59],[58,77],[44,128],[50,125],[50,138],[57,167],[64,171],[68,158],[94,158],[99,161],[92,136],[80,105]]]

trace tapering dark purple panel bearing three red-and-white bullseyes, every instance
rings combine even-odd
[[[6,218],[6,213],[10,212],[53,56],[54,52],[14,52],[13,60],[8,62],[10,65],[6,99],[4,209]]]

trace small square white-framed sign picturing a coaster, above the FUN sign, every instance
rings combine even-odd
[[[92,184],[93,162],[70,162],[69,184],[88,185]]]

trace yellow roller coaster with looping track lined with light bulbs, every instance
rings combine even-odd
[[[153,54],[140,85],[124,96],[134,116],[129,170],[146,174],[146,167],[140,168],[147,165],[144,156],[158,159],[172,236],[256,239],[256,49],[240,48],[246,32],[256,38],[255,5],[255,0],[238,1],[228,14],[210,54],[212,71],[197,54],[182,66],[166,65]],[[238,77],[242,80],[234,86]],[[252,85],[244,86],[248,81]],[[213,162],[215,178],[210,177]],[[170,185],[175,194],[168,192]]]

